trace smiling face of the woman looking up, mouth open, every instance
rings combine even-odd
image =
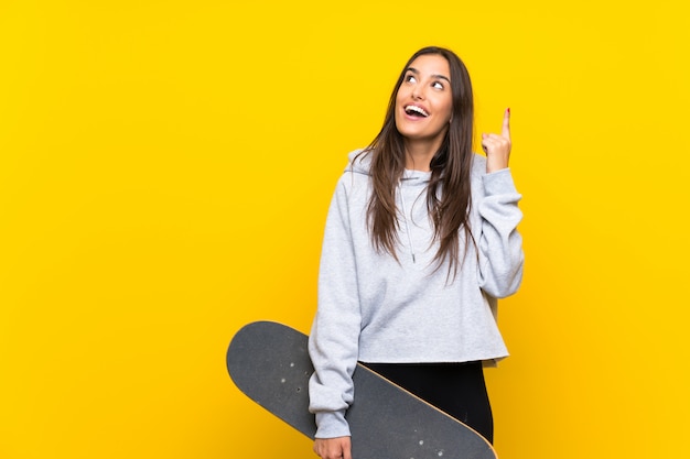
[[[438,54],[417,57],[406,69],[396,96],[396,127],[408,141],[440,147],[453,112],[451,70]]]

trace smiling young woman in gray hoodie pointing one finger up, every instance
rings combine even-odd
[[[467,69],[427,47],[405,66],[384,127],[349,154],[326,219],[319,308],[314,452],[351,459],[345,412],[357,361],[493,440],[482,365],[507,356],[496,298],[522,277],[522,215],[508,159],[510,111],[474,154]],[[356,441],[356,439],[355,439]]]

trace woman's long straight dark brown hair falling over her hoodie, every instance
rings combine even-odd
[[[439,242],[434,256],[436,270],[448,260],[449,276],[455,276],[474,243],[470,228],[472,193],[472,141],[474,136],[474,103],[470,74],[463,62],[450,50],[436,46],[419,50],[407,62],[388,102],[384,127],[362,154],[371,155],[373,193],[367,208],[367,227],[374,247],[388,252],[396,260],[399,222],[396,207],[396,188],[406,165],[403,136],[396,128],[396,96],[410,64],[421,55],[438,54],[444,57],[451,72],[453,109],[450,128],[443,143],[430,163],[427,208],[432,217],[433,240]],[[464,233],[463,259],[460,259],[460,229]]]

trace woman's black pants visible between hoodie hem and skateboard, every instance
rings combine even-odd
[[[494,441],[494,418],[482,362],[362,364]]]

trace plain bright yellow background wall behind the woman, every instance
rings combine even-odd
[[[684,3],[3,0],[0,457],[312,457],[225,350],[309,329],[345,155],[428,44],[467,64],[477,133],[513,110],[500,458],[682,456]]]

